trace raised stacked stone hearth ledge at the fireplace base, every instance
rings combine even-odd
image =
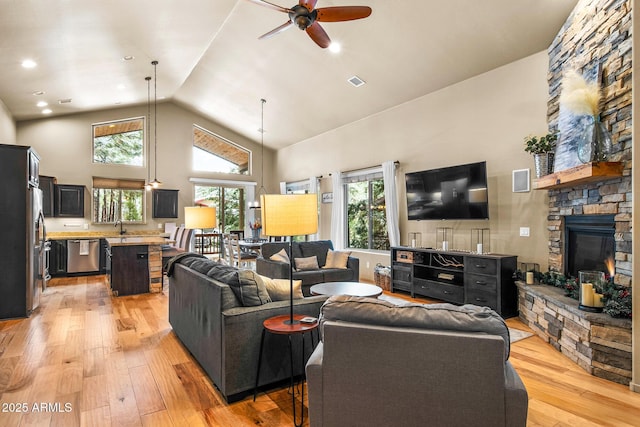
[[[631,381],[631,320],[578,309],[559,288],[518,282],[520,319],[585,371],[621,384]]]

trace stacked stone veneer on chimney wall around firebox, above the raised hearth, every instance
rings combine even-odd
[[[631,286],[631,1],[581,0],[549,47],[550,129],[558,127],[561,80],[570,69],[602,68],[601,120],[613,142],[612,161],[623,176],[549,191],[549,268],[563,271],[563,218],[614,214],[615,282]],[[558,171],[556,171],[558,172]]]

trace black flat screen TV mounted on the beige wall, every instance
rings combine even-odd
[[[410,220],[488,219],[486,162],[405,174]]]

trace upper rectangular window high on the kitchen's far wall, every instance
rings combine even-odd
[[[144,166],[144,117],[98,123],[93,128],[93,163]]]

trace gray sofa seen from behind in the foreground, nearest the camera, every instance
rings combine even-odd
[[[488,307],[334,296],[321,313],[311,427],[526,425],[508,328]]]

